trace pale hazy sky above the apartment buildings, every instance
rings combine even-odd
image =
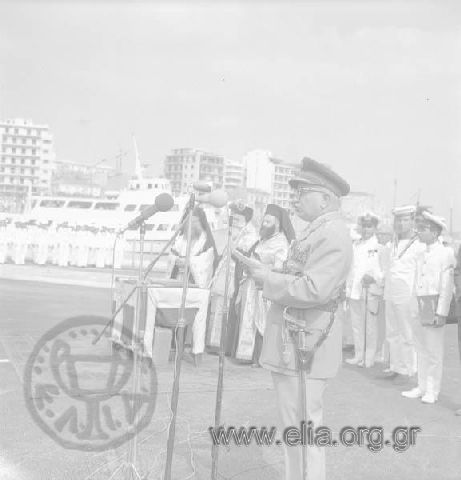
[[[0,118],[59,159],[309,156],[461,229],[461,2],[0,0]]]

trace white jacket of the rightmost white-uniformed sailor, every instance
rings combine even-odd
[[[446,317],[450,311],[455,263],[453,251],[439,242],[426,245],[416,258],[416,296],[418,300],[424,297],[434,299],[432,314]]]

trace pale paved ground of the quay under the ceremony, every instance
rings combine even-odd
[[[42,274],[43,272],[41,272]],[[16,272],[16,278],[20,275]],[[69,274],[69,276],[71,276]],[[10,275],[11,278],[11,275]],[[121,479],[114,473],[126,446],[104,453],[67,450],[34,423],[23,395],[23,369],[37,339],[65,318],[107,315],[110,292],[77,285],[0,280],[0,479]],[[385,447],[343,446],[327,451],[327,478],[373,480],[459,480],[461,478],[461,367],[456,327],[446,331],[446,362],[440,401],[434,406],[400,396],[402,386],[378,378],[379,368],[345,366],[325,395],[325,425],[333,432],[347,425],[383,426],[386,436],[397,426],[420,426],[416,445],[396,453]],[[173,478],[210,478],[217,358],[206,356],[199,368],[183,363]],[[153,421],[139,435],[139,468],[144,478],[162,478],[173,367],[157,368],[158,399]],[[227,425],[277,425],[270,375],[226,362],[223,420]],[[220,450],[221,479],[280,479],[278,446]]]

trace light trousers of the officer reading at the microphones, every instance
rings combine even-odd
[[[306,415],[301,415],[299,379],[272,372],[272,380],[277,395],[277,404],[282,428],[300,428],[301,421],[311,421],[312,428],[322,426],[323,392],[326,379],[306,380]],[[305,417],[305,418],[302,418]],[[283,445],[285,457],[285,480],[303,480],[301,446]],[[308,480],[325,480],[325,448],[307,447]]]

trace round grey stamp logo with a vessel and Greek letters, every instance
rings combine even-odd
[[[35,345],[24,372],[24,396],[37,425],[65,448],[117,448],[149,425],[157,377],[150,362],[115,348],[107,318],[69,318]],[[122,332],[125,338],[127,332]]]

